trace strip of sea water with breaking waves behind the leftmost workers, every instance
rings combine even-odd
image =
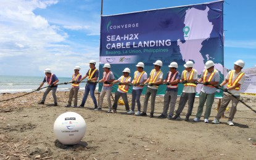
[[[63,82],[71,81],[70,78],[57,77],[59,84]],[[0,76],[0,94],[1,93],[17,93],[17,92],[32,92],[38,89],[41,82],[43,82],[44,76]],[[86,79],[84,80],[86,81]],[[85,90],[86,83],[80,84],[80,90]],[[48,86],[47,82],[44,82],[44,86]],[[68,91],[71,88],[71,84],[62,84],[58,86],[57,91]],[[39,90],[44,91],[45,89]],[[97,87],[96,87],[97,90]]]

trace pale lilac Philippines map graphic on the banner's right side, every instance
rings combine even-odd
[[[204,62],[207,62],[207,60],[214,62],[214,57],[209,57],[207,54],[207,59],[205,60],[202,53],[200,53],[202,42],[210,38],[210,33],[213,30],[212,22],[209,22],[208,19],[208,12],[209,7],[206,7],[205,10],[195,8],[186,10],[184,20],[185,27],[183,29],[185,42],[181,42],[180,39],[178,39],[178,46],[180,46],[183,60],[185,62],[192,60],[194,62],[194,68],[199,75],[204,70]],[[220,63],[215,63],[215,69],[217,69],[220,74],[224,74],[223,65]],[[197,86],[197,93],[199,92],[200,85]]]

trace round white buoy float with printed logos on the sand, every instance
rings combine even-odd
[[[86,122],[75,112],[66,112],[54,122],[54,134],[64,145],[75,145],[80,142],[86,132]]]

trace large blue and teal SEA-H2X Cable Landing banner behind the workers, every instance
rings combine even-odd
[[[182,73],[184,63],[192,60],[200,77],[204,63],[213,60],[223,81],[223,1],[101,18],[100,78],[104,63],[110,63],[115,79],[122,76],[126,67],[133,79],[138,62],[145,64],[149,75],[156,60],[163,62],[163,79],[171,62],[177,62]],[[112,92],[117,87],[114,85]],[[99,91],[101,88],[100,85]],[[161,85],[157,94],[165,94],[165,89]],[[179,84],[179,94],[182,89]],[[222,97],[222,93],[218,91],[216,96]]]

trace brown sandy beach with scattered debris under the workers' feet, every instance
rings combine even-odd
[[[1,94],[0,100],[22,94]],[[45,105],[38,105],[43,92],[0,102],[0,159],[255,159],[256,113],[242,103],[237,106],[234,126],[228,126],[227,118],[221,118],[220,124],[211,123],[218,100],[213,103],[210,123],[205,124],[192,121],[198,98],[186,122],[187,106],[182,119],[157,118],[163,97],[157,97],[155,117],[149,118],[128,115],[123,105],[118,105],[117,113],[107,113],[107,100],[103,111],[94,111],[91,97],[85,108],[65,108],[68,94],[57,92],[58,106],[53,106],[51,93]],[[83,92],[79,92],[78,104],[81,98]],[[242,95],[242,99],[256,109],[255,96]],[[66,111],[81,114],[86,121],[86,134],[78,145],[62,145],[54,136],[54,121]]]

